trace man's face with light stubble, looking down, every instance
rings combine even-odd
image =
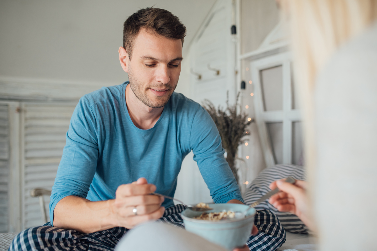
[[[181,40],[140,30],[134,41],[131,60],[125,69],[131,90],[149,107],[166,105],[177,87],[181,61]]]

